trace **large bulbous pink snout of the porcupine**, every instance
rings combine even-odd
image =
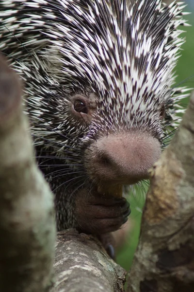
[[[91,145],[89,173],[96,182],[133,184],[148,178],[161,146],[145,132],[109,134]]]

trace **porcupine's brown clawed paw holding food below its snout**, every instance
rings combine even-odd
[[[118,230],[130,214],[125,198],[88,194],[82,190],[76,198],[78,229],[87,234],[101,235]]]

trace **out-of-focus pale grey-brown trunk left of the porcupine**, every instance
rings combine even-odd
[[[33,158],[21,93],[0,56],[0,292],[44,292],[54,257],[53,198]]]

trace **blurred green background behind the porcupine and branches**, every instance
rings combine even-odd
[[[186,33],[182,34],[182,37],[186,38],[186,42],[182,45],[183,51],[180,52],[180,58],[178,60],[178,65],[176,67],[176,85],[183,82],[181,86],[187,86],[189,88],[194,88],[194,0],[187,0],[188,6],[185,8],[185,11],[191,12],[190,15],[184,17],[188,19],[188,23],[192,26],[190,27],[180,27],[181,30],[184,30]],[[192,77],[193,76],[193,77]],[[188,80],[187,78],[191,77]],[[185,104],[188,104],[188,98],[184,100]],[[146,188],[146,185],[144,185]],[[144,206],[145,201],[145,191],[140,190],[131,191],[129,193],[129,202],[131,207],[131,230],[129,236],[123,246],[122,250],[117,252],[116,261],[123,268],[129,270],[133,254],[135,252],[139,232],[140,232],[140,223],[141,223],[141,210]]]

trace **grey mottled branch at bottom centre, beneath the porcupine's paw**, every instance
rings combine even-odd
[[[55,277],[50,292],[123,292],[126,272],[97,238],[75,230],[57,236]]]

